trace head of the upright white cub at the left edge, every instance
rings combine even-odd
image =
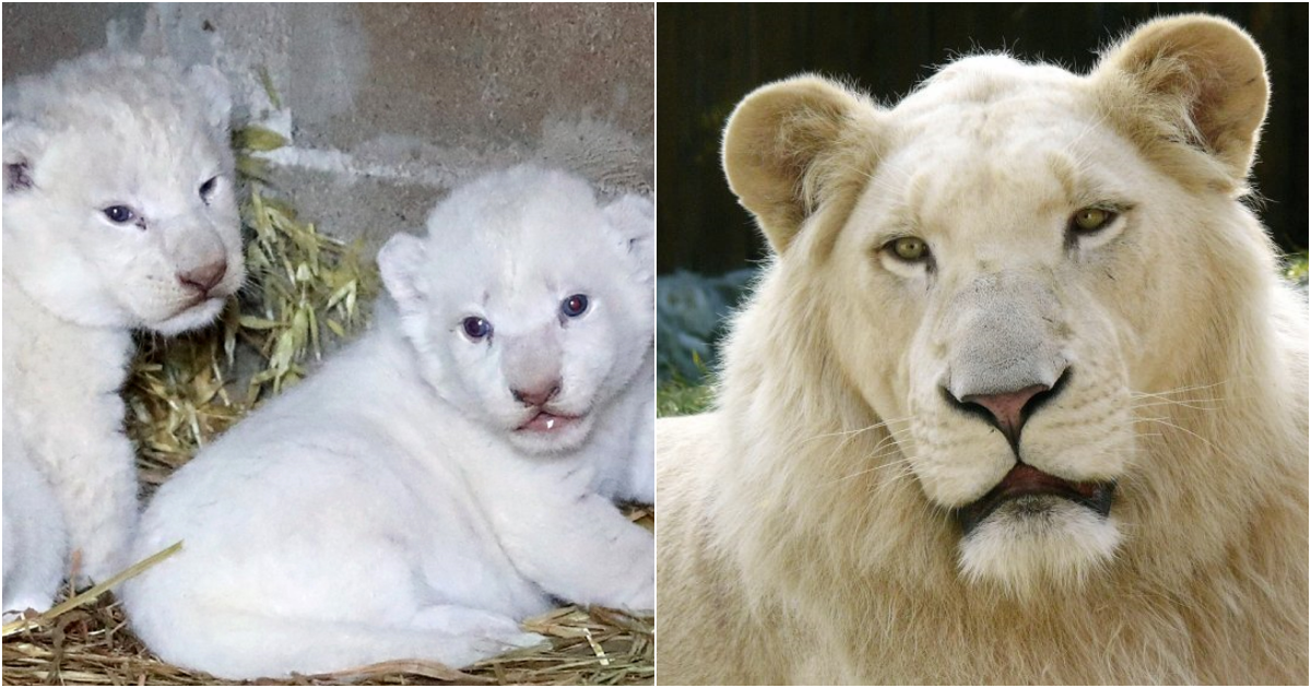
[[[5,122],[5,273],[60,317],[173,334],[243,284],[225,109],[189,79],[123,64]]]

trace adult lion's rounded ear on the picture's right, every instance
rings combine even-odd
[[[1270,85],[1261,50],[1232,22],[1205,14],[1152,21],[1106,52],[1095,76],[1127,80],[1137,102],[1121,106],[1156,119],[1131,130],[1146,151],[1164,134],[1213,156],[1231,180],[1247,178]]]

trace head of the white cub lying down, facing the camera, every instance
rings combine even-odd
[[[379,254],[434,391],[523,451],[568,451],[652,347],[650,203],[515,168],[456,190]]]

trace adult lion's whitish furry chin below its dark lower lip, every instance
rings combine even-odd
[[[961,537],[961,574],[1024,596],[1078,588],[1114,556],[1120,528],[1108,514],[1058,497],[1004,501]]]

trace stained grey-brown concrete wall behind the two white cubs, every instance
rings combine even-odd
[[[274,182],[376,246],[452,185],[539,160],[654,183],[652,4],[4,4],[4,81],[110,45],[222,68],[288,135]],[[281,107],[260,73],[271,79]]]

